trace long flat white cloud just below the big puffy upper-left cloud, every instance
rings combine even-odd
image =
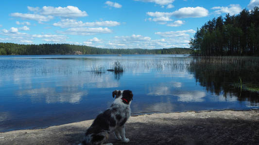
[[[61,21],[54,23],[54,26],[61,27],[61,28],[77,28],[77,27],[114,27],[121,25],[121,23],[116,21],[101,21],[101,22],[86,22],[83,23],[82,21],[77,21],[74,19],[62,19]]]

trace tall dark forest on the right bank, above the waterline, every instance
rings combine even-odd
[[[199,56],[259,56],[259,7],[207,21],[189,44]]]

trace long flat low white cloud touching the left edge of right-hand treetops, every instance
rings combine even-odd
[[[193,29],[182,30],[182,31],[166,31],[166,32],[155,32],[157,35],[161,35],[162,37],[186,37],[190,38],[190,35],[187,33],[195,33],[196,31]]]

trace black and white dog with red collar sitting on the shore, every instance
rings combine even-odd
[[[131,114],[130,103],[133,100],[133,94],[130,90],[115,90],[112,92],[112,97],[115,96],[111,106],[95,118],[79,145],[103,145],[111,132],[114,132],[118,140],[129,142],[125,137],[124,124]]]

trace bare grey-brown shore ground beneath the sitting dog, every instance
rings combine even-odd
[[[93,120],[46,129],[0,133],[0,145],[77,145]],[[131,116],[129,143],[113,145],[259,145],[259,110],[203,111]]]

